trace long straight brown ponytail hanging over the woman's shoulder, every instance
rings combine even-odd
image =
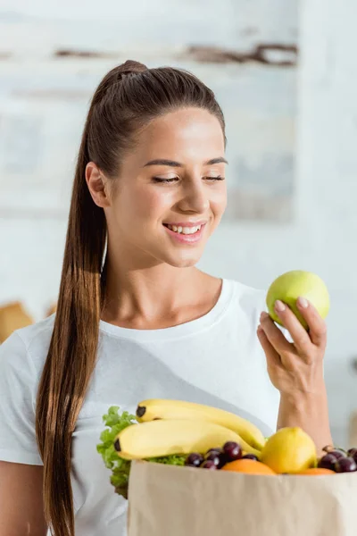
[[[86,131],[72,192],[54,331],[37,394],[44,508],[55,536],[74,536],[71,436],[95,368],[106,224],[85,180]]]

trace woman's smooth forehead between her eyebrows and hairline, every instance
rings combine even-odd
[[[220,121],[206,110],[188,108],[151,121],[137,138],[137,161],[155,158],[183,163],[207,162],[224,155]]]

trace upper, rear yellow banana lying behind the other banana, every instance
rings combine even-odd
[[[243,417],[212,406],[185,402],[182,400],[166,400],[150,398],[137,406],[137,421],[146,423],[155,419],[193,419],[220,424],[237,432],[248,445],[262,450],[266,440],[262,432],[253,423]]]

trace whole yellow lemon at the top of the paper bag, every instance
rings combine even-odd
[[[317,464],[315,443],[301,428],[281,428],[266,442],[260,460],[276,473],[301,473]]]

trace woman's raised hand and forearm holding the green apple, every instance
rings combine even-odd
[[[305,298],[298,298],[296,306],[309,331],[303,328],[293,311],[278,300],[275,311],[293,342],[286,339],[267,313],[261,315],[258,338],[267,358],[270,380],[280,391],[278,428],[301,426],[322,449],[332,443],[323,377],[326,323]]]

